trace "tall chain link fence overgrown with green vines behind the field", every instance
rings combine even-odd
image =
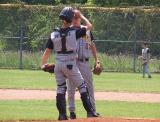
[[[39,69],[62,7],[0,5],[0,68]],[[153,8],[80,8],[93,23],[105,71],[140,72],[141,43],[150,43],[152,72],[160,71],[160,14]],[[54,61],[54,55],[49,62]],[[91,66],[94,61],[91,60]]]

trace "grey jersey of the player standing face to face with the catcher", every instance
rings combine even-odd
[[[89,41],[94,40],[91,31],[86,32],[86,37],[89,39]],[[91,56],[90,44],[85,41],[85,39],[86,38],[79,38],[77,40],[77,53],[79,59],[90,58]]]

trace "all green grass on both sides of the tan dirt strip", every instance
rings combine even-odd
[[[94,76],[96,91],[155,92],[160,93],[160,75],[152,79],[135,73],[102,73]],[[54,89],[54,75],[43,71],[0,69],[0,88]],[[160,103],[96,101],[97,111],[104,117],[160,118]],[[76,102],[77,115],[85,117],[80,101]],[[55,101],[0,100],[0,120],[57,119]]]

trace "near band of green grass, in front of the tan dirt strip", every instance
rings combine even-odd
[[[77,116],[86,113],[80,101],[76,102]],[[160,118],[160,103],[97,101],[97,111],[104,117]],[[55,101],[0,101],[0,120],[57,119]]]

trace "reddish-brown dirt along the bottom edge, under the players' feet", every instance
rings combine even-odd
[[[77,119],[68,121],[55,121],[55,120],[17,120],[17,121],[2,121],[2,122],[160,122],[158,119],[123,119],[123,118],[89,118]]]

